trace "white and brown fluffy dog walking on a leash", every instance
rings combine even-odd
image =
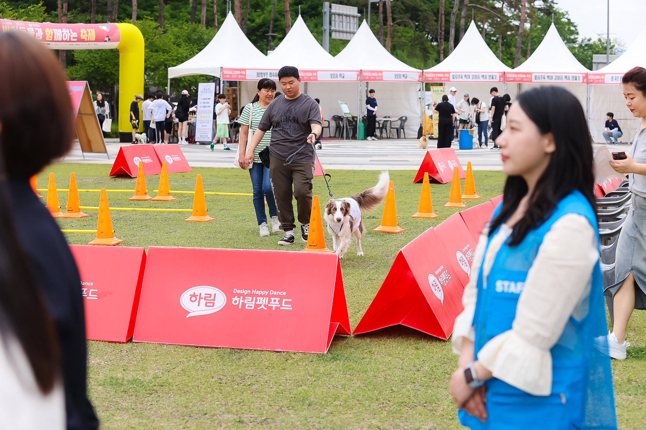
[[[382,171],[379,182],[373,188],[362,193],[329,200],[325,206],[325,219],[328,221],[328,233],[332,235],[333,249],[339,258],[348,251],[352,233],[357,237],[357,255],[363,255],[361,235],[366,231],[361,220],[362,211],[374,210],[386,197],[390,176],[388,171]]]

